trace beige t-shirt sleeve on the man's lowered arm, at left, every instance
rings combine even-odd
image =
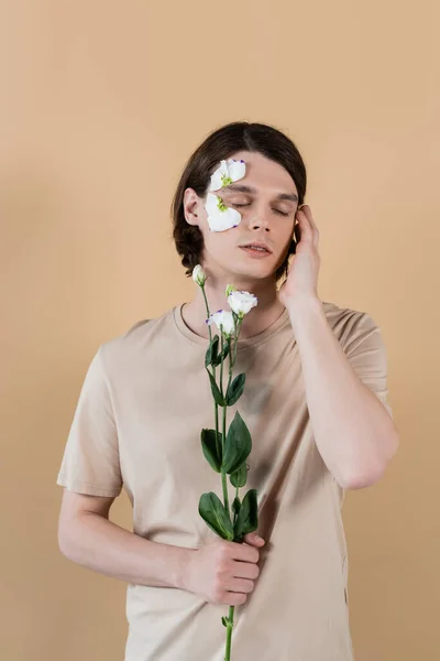
[[[118,430],[103,348],[88,368],[68,434],[57,484],[90,496],[119,496],[122,489]]]

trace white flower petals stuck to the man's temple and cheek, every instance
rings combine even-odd
[[[220,161],[220,166],[211,175],[211,183],[205,202],[205,208],[208,214],[208,225],[211,231],[224,231],[237,227],[241,223],[241,214],[237,209],[228,207],[218,195],[210,191],[219,191],[237,182],[246,173],[244,161]]]

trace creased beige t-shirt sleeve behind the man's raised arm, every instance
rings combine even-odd
[[[369,314],[362,313],[353,325],[343,350],[358,377],[374,392],[393,418],[387,401],[386,348],[381,328]]]

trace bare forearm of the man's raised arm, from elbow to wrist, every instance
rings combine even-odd
[[[397,446],[393,419],[359,379],[319,300],[289,310],[316,443],[345,488],[376,481]]]

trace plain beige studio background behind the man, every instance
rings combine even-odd
[[[439,19],[428,0],[3,0],[1,658],[123,658],[125,584],[62,556],[56,475],[98,345],[191,296],[174,187],[245,119],[304,155],[320,297],[387,345],[400,449],[343,509],[356,661],[439,659]],[[130,528],[125,496],[112,518]]]

